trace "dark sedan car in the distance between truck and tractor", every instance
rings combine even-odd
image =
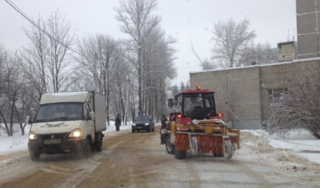
[[[147,130],[148,132],[154,131],[154,122],[150,116],[139,115],[134,118],[134,121],[131,124],[132,132],[135,130],[138,132],[140,130]]]

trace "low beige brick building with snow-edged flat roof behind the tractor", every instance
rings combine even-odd
[[[316,74],[319,65],[320,58],[310,58],[194,71],[189,72],[190,87],[214,90],[217,112],[224,113],[224,121],[233,120],[233,128],[259,129],[269,118],[266,110],[273,97],[287,91],[290,79]]]

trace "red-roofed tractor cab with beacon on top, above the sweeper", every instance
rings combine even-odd
[[[191,120],[221,118],[222,114],[217,114],[214,102],[214,91],[209,89],[184,90],[168,99],[168,107],[176,114],[179,123],[188,123]]]

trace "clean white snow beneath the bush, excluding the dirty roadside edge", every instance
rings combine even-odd
[[[241,130],[241,132],[251,132],[254,135],[262,135],[267,138],[268,143],[274,148],[287,150],[311,161],[320,163],[320,140],[316,139],[306,130],[293,130],[285,138],[276,134],[270,135],[264,130]]]

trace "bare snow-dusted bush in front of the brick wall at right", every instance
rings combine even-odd
[[[287,93],[279,93],[269,107],[269,131],[285,136],[293,128],[300,127],[320,139],[319,73],[304,79],[290,80]]]

